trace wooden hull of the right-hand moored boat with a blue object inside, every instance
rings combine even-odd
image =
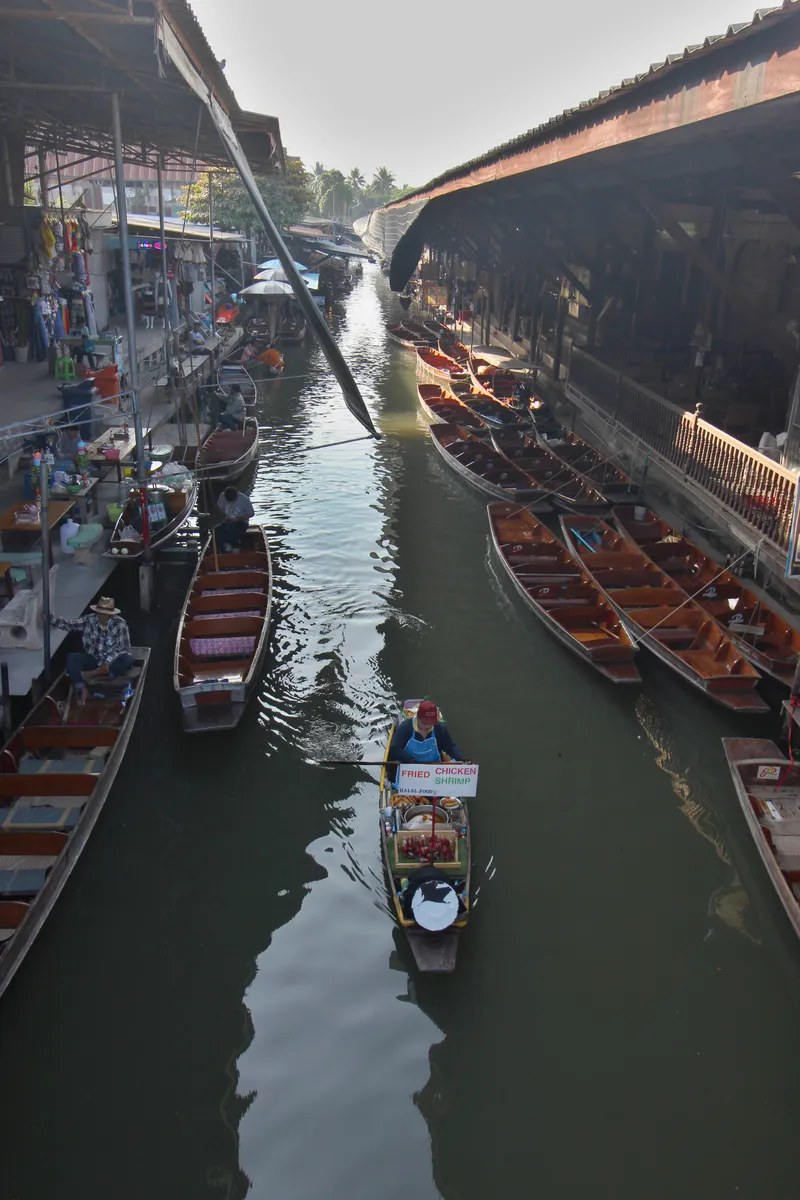
[[[686,683],[690,683],[693,688],[697,688],[697,690],[703,692],[704,696],[708,696],[710,700],[714,700],[717,704],[721,704],[723,708],[728,708],[735,713],[769,712],[769,704],[765,703],[765,701],[763,701],[762,697],[756,691],[756,684],[758,683],[757,673],[752,670],[750,664],[744,662],[741,658],[736,664],[739,671],[739,673],[736,674],[733,674],[732,672],[724,673],[722,670],[717,668],[714,665],[714,662],[711,664],[711,670],[714,671],[714,673],[703,674],[698,668],[692,666],[690,661],[682,659],[679,652],[673,650],[670,646],[664,644],[662,641],[660,641],[658,637],[655,636],[655,626],[654,626],[654,632],[651,632],[648,626],[643,625],[631,614],[632,611],[640,612],[643,610],[643,604],[639,602],[637,607],[632,610],[632,606],[630,605],[626,606],[624,602],[620,602],[621,594],[624,594],[626,590],[630,593],[631,589],[630,588],[609,589],[609,587],[603,586],[603,583],[601,582],[601,580],[599,580],[596,575],[596,570],[594,570],[593,566],[590,565],[590,560],[588,560],[588,558],[579,552],[578,548],[579,544],[575,536],[576,530],[572,527],[576,523],[576,521],[579,522],[581,520],[582,520],[581,517],[577,518],[576,517],[567,518],[564,516],[559,517],[564,540],[570,552],[573,553],[583,563],[584,569],[595,581],[600,590],[604,593],[608,601],[614,606],[633,641],[637,643],[640,642],[642,644],[646,646],[646,648],[651,650],[652,654],[655,654],[656,658],[664,664],[664,666],[668,666]],[[585,526],[587,530],[590,530],[591,527],[594,526],[606,529],[610,533],[609,527],[603,526],[602,522],[597,522],[591,518],[583,518],[583,520],[587,522]],[[638,552],[638,558],[648,563],[646,556],[644,556],[640,551]],[[702,612],[702,610],[697,608],[697,605],[691,605],[691,602],[684,604],[682,593],[680,592],[680,589],[676,588],[672,583],[672,581],[663,575],[662,571],[658,571],[657,568],[655,568],[652,564],[649,565],[656,572],[655,577],[658,578],[658,583],[654,584],[652,587],[658,587],[666,593],[666,595],[669,595],[669,600],[664,599],[662,607],[672,610],[673,614],[676,614],[679,611],[684,611],[686,613],[686,619],[694,619],[694,624],[692,626],[688,626],[687,629],[687,641],[690,642],[687,649],[691,650],[693,646],[692,635],[694,635],[696,632],[698,634],[702,632],[703,619],[705,619],[705,614]],[[646,590],[646,587],[644,590]],[[698,611],[700,618],[699,624],[697,622]],[[663,626],[666,622],[667,617],[664,617],[663,620],[660,620],[657,624],[660,626]],[[711,623],[706,622],[706,625],[710,626]],[[664,636],[663,631],[662,636]],[[729,640],[724,638],[724,635],[721,634],[720,640],[722,642],[727,641],[728,646],[732,647],[732,643],[729,642]],[[706,659],[710,659],[710,652],[706,653],[705,656]],[[745,670],[741,670],[742,666],[745,667]]]

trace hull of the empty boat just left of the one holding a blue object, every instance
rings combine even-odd
[[[559,589],[564,589],[565,586],[570,587],[571,584],[581,584],[582,582],[585,586],[589,581],[589,575],[583,569],[583,565],[578,562],[578,559],[569,554],[564,546],[561,546],[555,538],[552,538],[549,530],[546,530],[542,527],[543,533],[547,535],[545,540],[547,541],[552,538],[557,552],[560,551],[561,554],[570,559],[569,565],[575,568],[575,574],[565,572],[557,563],[553,565],[552,571],[537,572],[535,576],[528,576],[527,578],[530,580],[531,587],[527,587],[525,582],[513,571],[513,566],[509,560],[509,557],[503,551],[498,534],[498,521],[517,516],[517,506],[512,504],[489,504],[486,512],[489,521],[492,547],[499,562],[511,580],[515,590],[522,598],[527,607],[530,608],[530,611],[541,620],[548,632],[557,637],[558,641],[561,642],[563,646],[566,646],[573,654],[577,654],[579,659],[588,662],[589,666],[594,667],[600,672],[600,674],[604,676],[606,679],[610,679],[612,683],[642,683],[642,677],[639,676],[638,668],[633,662],[636,647],[631,643],[621,619],[619,619],[620,636],[618,643],[615,646],[603,646],[602,648],[599,648],[596,643],[593,646],[591,642],[584,642],[579,636],[570,634],[569,626],[565,626],[565,624],[558,620],[558,610],[548,608],[546,602],[537,599],[537,593],[541,592],[557,594]],[[535,523],[536,526],[540,526],[540,522],[537,522],[535,517],[529,514],[519,514],[519,516],[524,516],[528,524]],[[523,545],[524,544],[521,544],[521,550],[523,548]],[[600,593],[600,589],[596,588],[595,584],[590,586],[595,590],[596,598],[587,600],[587,605],[594,604],[596,606],[597,599],[602,598],[601,607],[604,606],[609,613],[613,613],[614,617],[616,617],[615,610],[613,610],[613,606],[607,601],[606,596]],[[563,608],[561,613],[567,614],[567,610]]]

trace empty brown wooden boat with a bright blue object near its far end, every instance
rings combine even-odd
[[[634,640],[724,708],[766,713],[760,678],[734,642],[668,575],[610,526],[563,516],[569,548],[602,588]]]

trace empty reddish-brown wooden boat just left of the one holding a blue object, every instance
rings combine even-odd
[[[516,504],[487,506],[492,545],[546,629],[613,683],[640,683],[616,610],[549,529]]]

